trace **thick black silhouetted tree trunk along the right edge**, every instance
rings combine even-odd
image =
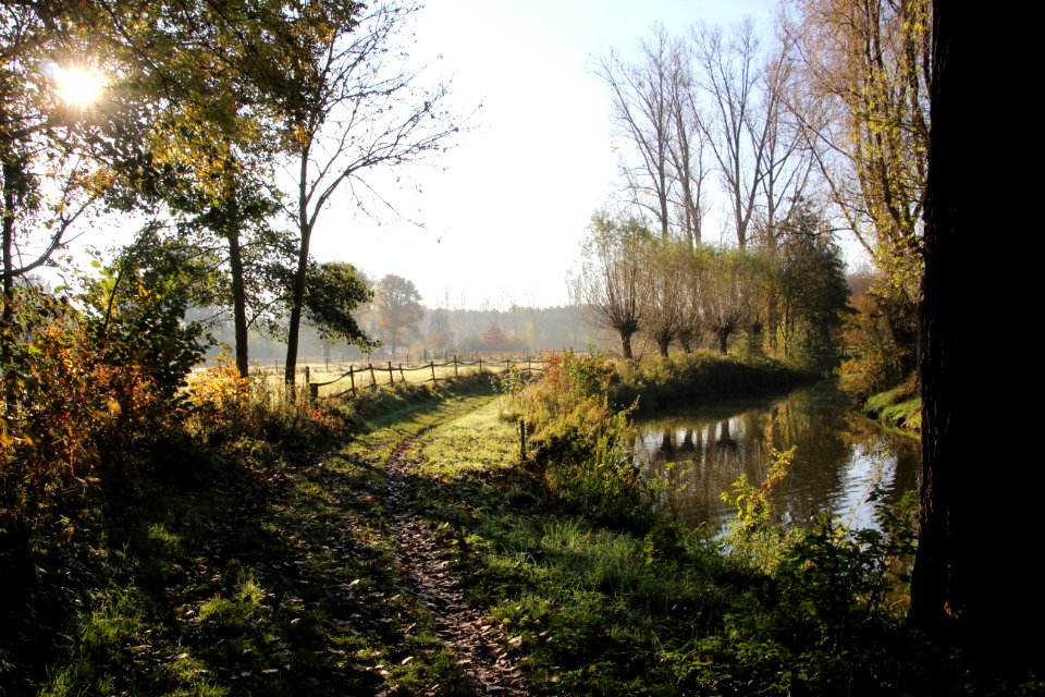
[[[1028,418],[1021,417],[1025,408],[1010,420],[1011,433],[1022,436],[1007,435],[1003,442],[978,436],[985,413],[1012,408],[1007,401],[1019,376],[983,347],[983,328],[968,315],[970,303],[1011,302],[1012,289],[1003,276],[1018,277],[1021,265],[1029,264],[1016,258],[1018,248],[988,242],[1018,229],[1009,220],[1016,211],[1006,210],[1018,207],[1011,201],[999,206],[998,199],[1007,197],[984,191],[1000,182],[970,178],[970,171],[997,172],[1005,182],[1016,176],[1004,176],[1001,162],[981,166],[978,158],[1006,157],[1012,144],[1004,138],[998,143],[996,127],[1010,117],[1018,120],[1018,107],[1010,103],[1005,110],[1012,111],[996,111],[1004,98],[989,90],[999,88],[975,77],[1011,70],[1003,65],[1011,57],[984,49],[983,39],[992,32],[982,25],[982,12],[943,0],[934,2],[933,11],[921,328],[921,529],[908,619],[939,640],[964,646],[992,668],[1019,671],[1042,664],[1038,637],[1045,599],[1036,563],[1042,522],[1040,514],[1031,517],[1041,506],[1040,489],[1032,486],[1041,466],[1040,444],[1030,424],[1020,427]],[[1006,127],[1019,131],[1013,124]],[[1019,200],[1017,195],[1009,198]],[[970,283],[978,268],[1003,276]],[[1038,370],[1040,357],[1032,352],[1019,358],[1029,374]]]

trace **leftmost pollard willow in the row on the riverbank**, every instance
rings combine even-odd
[[[588,227],[583,259],[573,279],[574,296],[595,327],[620,337],[625,358],[631,358],[631,338],[642,327],[642,246],[649,231],[635,218],[618,222],[595,213]]]

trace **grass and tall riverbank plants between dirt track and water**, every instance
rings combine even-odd
[[[913,550],[913,500],[881,508],[878,529],[826,515],[789,529],[767,508],[788,467],[778,453],[770,480],[737,482],[738,522],[723,540],[654,515],[631,498],[630,474],[599,462],[613,450],[599,432],[627,432],[598,396],[610,376],[599,356],[564,356],[540,384],[509,383],[512,396],[433,428],[408,453],[422,514],[536,693],[1034,694],[1034,683],[976,673],[906,628],[899,560]],[[526,458],[520,413],[551,423],[534,427]],[[555,444],[565,432],[574,445]],[[542,461],[549,452],[569,464]],[[558,467],[581,472],[564,481]],[[563,491],[605,487],[607,472],[626,480],[607,491],[627,505]]]

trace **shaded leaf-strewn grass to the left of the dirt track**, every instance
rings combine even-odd
[[[64,574],[66,619],[3,639],[0,694],[467,694],[398,568],[384,462],[490,391],[382,390],[317,406],[302,430],[270,415],[278,438],[212,432],[169,453],[135,497],[94,503],[66,554],[85,570]],[[60,583],[25,611],[46,612]]]

